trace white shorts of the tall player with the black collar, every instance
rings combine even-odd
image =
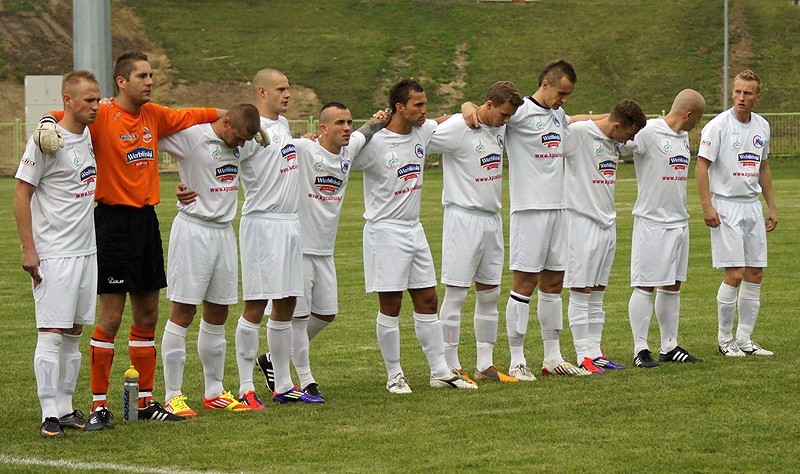
[[[527,273],[566,270],[566,220],[564,209],[512,212],[509,267]]]

